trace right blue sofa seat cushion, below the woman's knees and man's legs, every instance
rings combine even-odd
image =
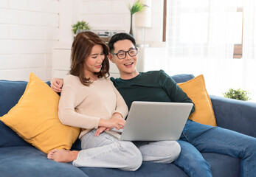
[[[204,159],[209,162],[213,176],[239,177],[241,163],[240,159],[218,153],[202,153],[202,155],[204,156]],[[153,162],[143,162],[142,166],[139,167],[136,172],[99,167],[80,167],[80,170],[83,170],[83,172],[86,173],[88,176],[94,177],[187,177],[187,174],[184,173],[184,171],[177,167],[175,164],[160,164]]]

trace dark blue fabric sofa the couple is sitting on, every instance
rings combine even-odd
[[[191,74],[173,76],[177,83],[193,78]],[[47,82],[49,84],[49,82]],[[0,117],[18,103],[27,82],[0,80]],[[218,126],[256,137],[256,103],[210,96]],[[80,140],[72,146],[80,150]],[[240,159],[217,153],[202,153],[210,163],[213,176],[240,176]],[[58,163],[46,158],[46,154],[25,142],[0,121],[0,177],[26,176],[187,176],[174,164],[143,162],[135,172],[110,168],[73,167],[71,163]]]

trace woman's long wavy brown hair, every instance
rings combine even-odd
[[[80,32],[74,39],[72,44],[72,54],[71,54],[71,66],[69,74],[79,77],[80,82],[85,86],[91,84],[90,78],[86,78],[83,74],[83,62],[91,54],[91,49],[95,45],[103,46],[103,53],[105,58],[102,63],[102,68],[100,72],[97,72],[98,78],[109,76],[109,61],[108,53],[109,49],[105,42],[94,32]]]

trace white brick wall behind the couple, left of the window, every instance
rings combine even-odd
[[[130,30],[127,5],[134,0],[1,0],[0,79],[28,80],[34,72],[52,78],[52,51],[72,44],[71,24],[88,21],[93,30]],[[145,42],[162,41],[162,0],[152,0],[152,27]],[[135,16],[134,16],[135,22]],[[137,44],[142,30],[135,27]]]

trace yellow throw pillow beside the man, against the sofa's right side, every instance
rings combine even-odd
[[[178,83],[178,85],[190,97],[196,107],[189,119],[201,124],[216,126],[212,102],[205,88],[203,74],[185,83]]]

